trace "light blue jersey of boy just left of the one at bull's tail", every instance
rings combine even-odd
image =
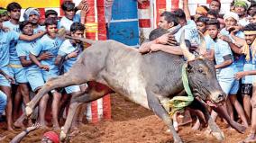
[[[59,38],[51,39],[49,35],[44,35],[41,40],[37,41],[36,47],[32,49],[31,53],[34,56],[39,56],[41,53],[44,52],[50,53],[53,58],[41,60],[41,64],[49,66],[50,69],[56,69],[54,63],[62,42],[63,40],[60,40]]]

